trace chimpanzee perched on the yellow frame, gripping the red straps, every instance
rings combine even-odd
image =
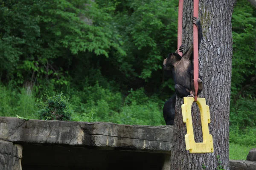
[[[193,24],[195,24],[198,28],[198,49],[199,44],[202,40],[203,34],[202,34],[202,28],[200,21],[193,17],[192,20]],[[180,52],[183,52],[183,45],[180,45],[179,48]],[[168,55],[166,59],[163,61],[164,69],[169,70],[172,67],[173,68],[173,78],[175,82],[175,92],[177,96],[180,98],[186,97],[186,96],[192,96],[195,97],[195,89],[194,89],[194,83],[193,83],[193,63],[192,59],[193,56],[193,45],[189,47],[189,49],[180,57],[179,54],[177,54],[177,50],[175,53],[171,53]],[[203,89],[203,81],[202,77],[198,75],[198,95],[201,93]]]

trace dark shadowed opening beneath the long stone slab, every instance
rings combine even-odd
[[[23,144],[22,170],[161,170],[169,155]]]

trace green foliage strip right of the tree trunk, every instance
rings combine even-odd
[[[232,15],[233,60],[230,102],[230,142],[255,145],[256,9],[238,0]]]

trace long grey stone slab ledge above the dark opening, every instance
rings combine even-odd
[[[138,150],[171,151],[172,126],[118,125],[106,122],[71,122],[0,117],[0,140],[15,143],[58,144]]]

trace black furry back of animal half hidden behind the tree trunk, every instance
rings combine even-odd
[[[175,116],[176,94],[172,95],[163,105],[163,118],[166,125],[173,125]]]

